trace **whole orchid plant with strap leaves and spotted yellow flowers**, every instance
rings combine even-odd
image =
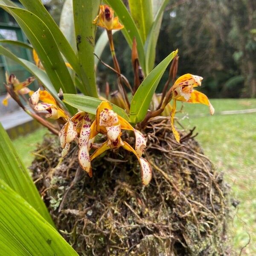
[[[32,50],[35,64],[17,58],[2,46],[0,46],[0,54],[17,61],[33,73],[39,81],[40,88],[35,92],[27,88],[35,78],[28,78],[20,83],[14,75],[6,75],[6,83],[9,87],[7,97],[12,96],[19,101],[17,94],[29,93],[31,97],[28,105],[32,111],[28,111],[21,102],[20,106],[52,133],[58,134],[62,157],[67,156],[71,142],[77,143],[79,164],[90,177],[92,177],[91,161],[93,159],[106,150],[116,151],[118,148],[124,148],[137,157],[141,167],[142,183],[148,185],[152,170],[143,157],[147,141],[144,128],[147,123],[163,113],[169,116],[175,140],[180,143],[180,134],[174,124],[176,101],[208,105],[210,113],[214,113],[214,108],[207,96],[194,90],[194,87],[201,86],[202,77],[185,74],[175,81],[178,64],[177,50],[171,52],[154,67],[155,46],[167,0],[160,1],[154,17],[150,10],[147,12],[145,9],[147,7],[138,6],[139,3],[133,0],[129,1],[131,13],[121,0],[106,0],[108,5],[100,5],[98,0],[87,0],[85,1],[87,6],[84,6],[82,0],[73,1],[71,15],[69,12],[70,20],[74,23],[74,27],[69,29],[75,30],[73,35],[75,35],[76,44],[73,46],[71,42],[74,38],[68,36],[65,38],[64,34],[67,33],[61,32],[39,0],[20,0],[20,2],[25,9],[18,8],[9,0],[0,0],[0,7],[13,15],[25,32],[32,46],[20,42],[19,45]],[[143,8],[146,17],[137,15],[137,8]],[[118,14],[116,17],[114,10]],[[70,10],[64,9],[64,11]],[[29,24],[32,18],[33,26]],[[151,21],[145,23],[145,19]],[[143,23],[147,27],[143,27]],[[99,44],[105,47],[101,41],[105,34],[102,34],[94,47],[97,26],[106,30],[108,40],[105,42],[108,41],[110,46],[113,67],[100,59],[102,50],[99,50]],[[121,30],[131,47],[133,85],[122,75],[118,56],[115,53],[113,30]],[[107,84],[105,88],[105,98],[99,96],[96,86],[94,63],[97,58],[111,72],[116,73],[118,91],[109,101],[109,85]],[[155,95],[157,85],[171,61],[168,81],[158,97],[157,104],[152,104],[157,98]],[[78,90],[84,95],[77,94]],[[131,101],[128,91],[132,95]],[[52,124],[41,116],[58,122]],[[134,135],[129,133],[129,136],[135,137],[134,147],[123,138],[122,133],[125,130],[133,131]],[[102,134],[101,138],[105,138],[105,142],[99,147],[97,147],[98,134]]]

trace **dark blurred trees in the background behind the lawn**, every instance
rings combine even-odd
[[[64,0],[45,1],[58,23]],[[100,33],[99,29],[98,36]],[[121,32],[117,32],[114,39],[122,73],[130,78],[131,50]],[[156,64],[177,48],[179,75],[203,76],[202,91],[207,95],[256,97],[255,0],[170,0],[163,16]],[[107,49],[102,60],[112,65]],[[98,75],[102,90],[107,80],[115,87],[115,75],[102,64],[99,64]]]

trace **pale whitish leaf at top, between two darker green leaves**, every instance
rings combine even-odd
[[[76,34],[73,16],[73,0],[66,0],[61,10],[60,29],[76,52]]]

